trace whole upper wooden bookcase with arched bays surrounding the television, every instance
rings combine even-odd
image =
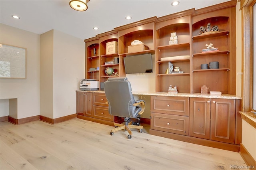
[[[97,35],[86,42],[86,78],[105,82],[108,76],[107,67],[125,77],[124,57],[151,53],[155,55],[155,91],[168,92],[170,85],[176,85],[178,93],[200,93],[200,87],[206,85],[211,91],[223,94],[236,94],[236,20],[235,2],[226,2],[218,6],[210,6],[199,10],[190,9],[160,18],[152,17],[124,26],[114,28],[110,32]],[[199,35],[200,27],[218,26],[216,32]],[[169,45],[170,34],[176,32],[178,44]],[[134,40],[140,40],[149,49],[129,52],[128,46]],[[106,43],[118,42],[118,51],[106,54]],[[212,43],[218,51],[202,53],[206,44]],[[92,53],[96,47],[96,54]],[[162,59],[166,57],[190,56],[189,59]],[[105,65],[106,61],[119,58],[118,64]],[[162,60],[161,60],[162,59]],[[174,67],[180,67],[184,73],[166,74],[168,61]],[[201,70],[201,64],[219,62],[218,69]],[[98,71],[89,68],[100,67]]]

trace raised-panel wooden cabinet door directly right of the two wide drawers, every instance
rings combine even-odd
[[[210,100],[190,98],[189,136],[210,139]]]

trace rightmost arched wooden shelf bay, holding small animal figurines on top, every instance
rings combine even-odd
[[[204,10],[192,16],[192,93],[200,93],[200,87],[206,85],[210,91],[221,91],[222,94],[236,94],[236,41],[234,10],[225,8],[220,10]],[[200,26],[206,27],[210,23],[218,26],[217,32],[206,32],[198,35]],[[212,43],[219,51],[202,53],[206,44]],[[218,61],[218,69],[201,69],[201,64]]]

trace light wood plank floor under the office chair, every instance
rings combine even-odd
[[[50,125],[0,124],[1,170],[230,170],[246,166],[237,152],[72,119]]]

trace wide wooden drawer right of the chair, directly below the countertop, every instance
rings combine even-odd
[[[189,115],[189,97],[151,97],[151,112],[172,115]]]

